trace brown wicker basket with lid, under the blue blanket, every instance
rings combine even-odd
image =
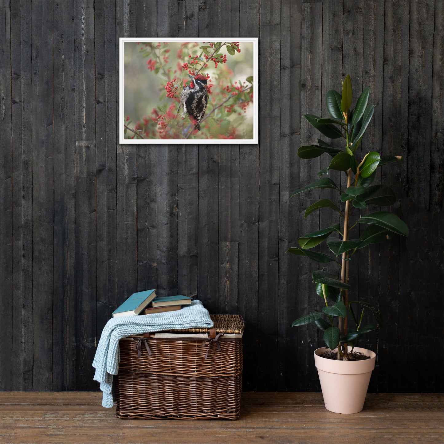
[[[242,317],[211,315],[214,328],[180,330],[206,338],[155,338],[149,333],[119,342],[116,416],[123,419],[237,419],[242,392]],[[174,333],[178,333],[175,331]],[[222,334],[220,334],[222,333]],[[151,353],[151,355],[150,355]]]

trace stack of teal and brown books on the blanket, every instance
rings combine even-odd
[[[113,311],[112,317],[163,313],[180,310],[182,305],[190,304],[191,298],[188,296],[157,297],[155,289],[139,291],[138,293],[131,294],[122,305]]]

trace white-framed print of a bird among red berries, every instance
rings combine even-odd
[[[124,37],[119,49],[120,143],[258,143],[257,38]]]

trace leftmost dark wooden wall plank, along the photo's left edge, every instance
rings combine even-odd
[[[0,302],[4,330],[0,341],[0,389],[12,390],[12,117],[11,23],[8,1],[0,2]],[[14,48],[15,50],[16,48]]]

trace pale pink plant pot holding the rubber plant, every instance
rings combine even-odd
[[[349,352],[351,349],[349,347]],[[375,368],[376,353],[355,347],[353,351],[371,357],[364,361],[334,361],[319,356],[329,350],[322,347],[314,351],[314,364],[321,382],[325,408],[336,413],[361,412],[370,376]]]

